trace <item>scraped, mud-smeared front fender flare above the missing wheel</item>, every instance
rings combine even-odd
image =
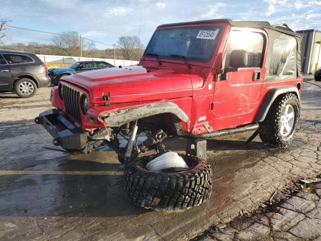
[[[136,119],[145,118],[155,114],[172,113],[181,121],[188,122],[188,115],[175,103],[162,102],[147,104],[143,106],[117,110],[115,112],[107,112],[99,116],[104,119],[108,127],[120,127],[128,122]]]

